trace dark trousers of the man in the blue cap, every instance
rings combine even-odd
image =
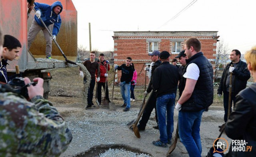
[[[151,92],[154,92],[153,90]],[[142,114],[142,118],[140,120],[140,128],[144,129],[146,127],[146,124],[148,123],[148,119],[150,118],[151,112],[155,108],[156,111],[156,92],[150,94],[150,97],[148,97],[148,104]],[[145,104],[146,105],[146,104]],[[156,112],[156,123],[158,124],[158,118],[157,118],[157,112]]]

